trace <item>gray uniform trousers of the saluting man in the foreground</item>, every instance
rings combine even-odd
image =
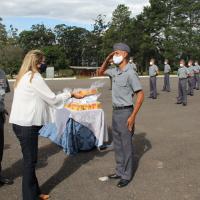
[[[113,110],[112,133],[116,160],[116,174],[122,179],[131,180],[133,176],[133,143],[127,127],[127,120],[133,109]]]

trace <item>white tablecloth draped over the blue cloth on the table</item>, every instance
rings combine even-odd
[[[97,139],[97,147],[108,141],[108,129],[102,109],[73,111],[63,108],[56,110],[54,114],[58,134],[64,132],[68,119],[72,118],[94,133]]]

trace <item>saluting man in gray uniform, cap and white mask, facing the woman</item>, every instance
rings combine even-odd
[[[117,43],[113,49],[114,51],[106,58],[97,74],[112,77],[112,134],[116,172],[108,177],[120,179],[117,186],[124,187],[133,177],[132,136],[136,115],[144,100],[144,93],[137,73],[129,64],[129,46]],[[107,69],[111,59],[116,67]],[[135,105],[133,105],[134,94],[136,96]]]

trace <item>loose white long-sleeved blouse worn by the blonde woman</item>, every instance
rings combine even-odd
[[[30,82],[27,72],[14,90],[9,122],[20,126],[41,126],[52,122],[52,108],[63,108],[68,92],[55,95],[40,73],[35,73]]]

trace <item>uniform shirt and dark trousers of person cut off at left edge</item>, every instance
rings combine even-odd
[[[4,149],[4,123],[5,123],[5,105],[4,98],[5,94],[10,92],[8,80],[5,72],[0,69],[0,175],[1,175],[1,162],[3,158]]]

